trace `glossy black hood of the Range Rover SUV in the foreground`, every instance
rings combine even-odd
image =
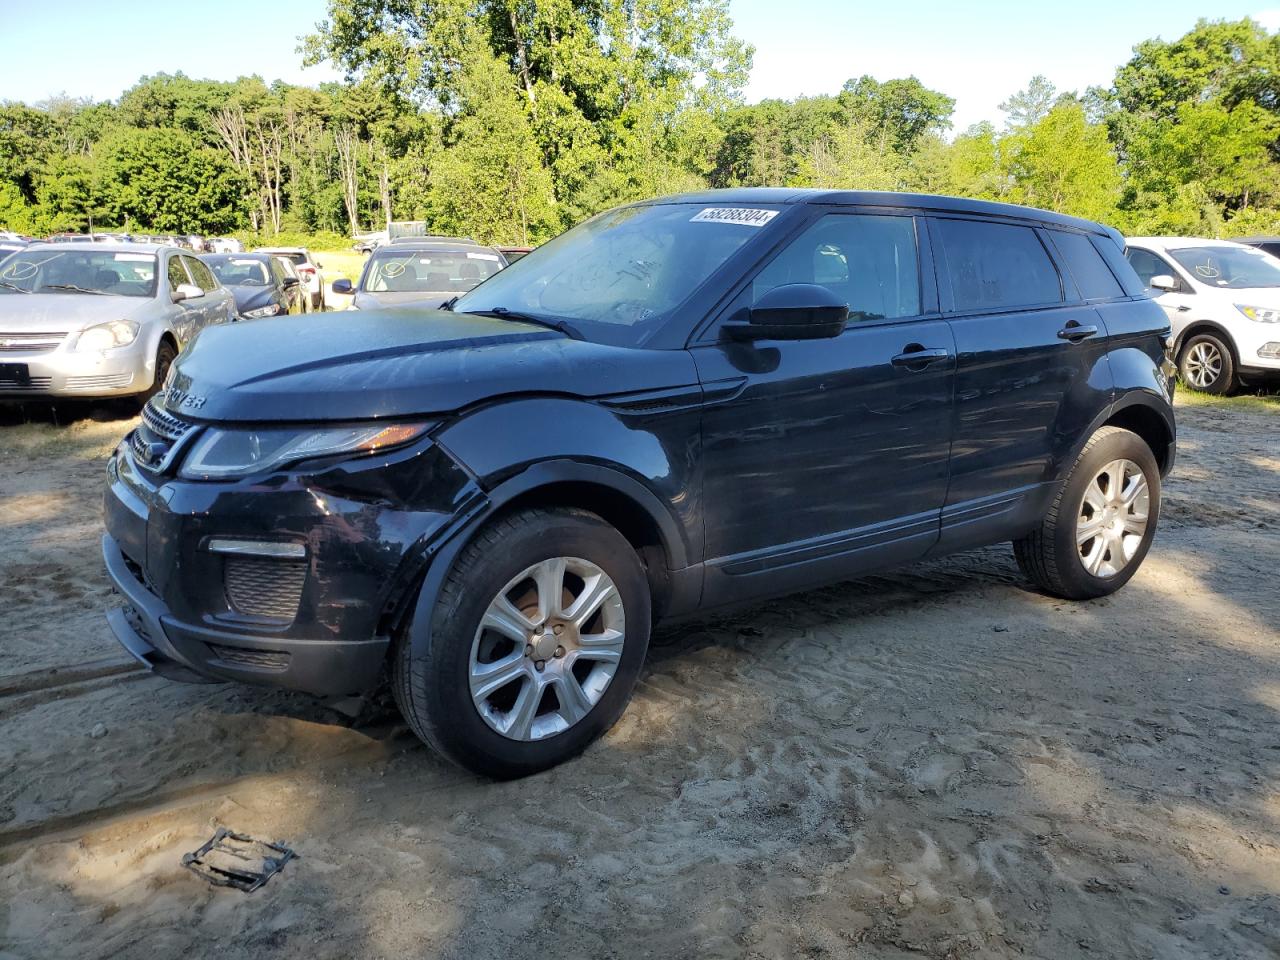
[[[608,347],[440,310],[210,326],[173,371],[170,410],[232,421],[448,413],[503,394],[602,397],[698,383],[685,351]]]

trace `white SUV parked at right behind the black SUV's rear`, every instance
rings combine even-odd
[[[1230,393],[1280,376],[1280,260],[1194,237],[1130,237],[1125,256],[1169,315],[1183,383]]]

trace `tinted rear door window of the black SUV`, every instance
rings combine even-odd
[[[980,220],[937,220],[956,310],[1059,303],[1053,261],[1029,227]]]

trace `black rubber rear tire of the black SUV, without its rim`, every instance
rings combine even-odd
[[[1112,576],[1094,576],[1080,558],[1076,520],[1085,488],[1103,466],[1115,460],[1135,463],[1147,480],[1147,529],[1124,568]],[[1160,467],[1147,443],[1119,426],[1103,426],[1084,444],[1066,483],[1039,527],[1014,541],[1014,557],[1023,573],[1042,590],[1068,600],[1088,600],[1115,593],[1129,582],[1151,549],[1160,520]]]

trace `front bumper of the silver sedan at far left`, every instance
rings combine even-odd
[[[123,397],[142,393],[155,379],[155,357],[141,343],[108,351],[73,352],[64,343],[55,351],[5,351],[0,365],[22,365],[26,379],[0,376],[0,399],[10,397]]]

